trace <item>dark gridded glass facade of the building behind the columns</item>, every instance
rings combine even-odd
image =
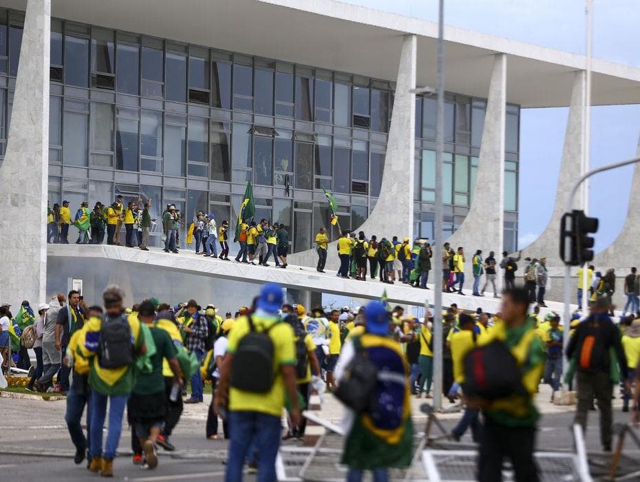
[[[22,23],[23,13],[0,10],[0,155]],[[320,225],[338,237],[323,188],[334,193],[343,228],[359,227],[380,194],[392,82],[58,19],[50,81],[52,202],[65,198],[75,209],[81,200],[140,196],[153,200],[154,217],[175,204],[187,227],[202,209],[233,232],[250,180],[257,218],[285,224],[300,251]],[[435,109],[429,98],[416,103],[416,233],[426,235]],[[473,196],[484,103],[447,97],[450,230]],[[517,136],[518,108],[507,117],[507,137]],[[508,178],[517,182],[518,139],[506,144]],[[506,193],[515,204],[516,187]],[[184,245],[186,233],[180,238]]]

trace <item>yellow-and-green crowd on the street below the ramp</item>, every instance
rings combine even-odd
[[[442,313],[440,340],[429,311],[418,318],[385,302],[308,310],[286,303],[277,284],[265,284],[251,306],[224,318],[213,304],[202,307],[195,300],[170,306],[152,297],[125,308],[123,298],[112,285],[100,306],[89,306],[77,291],[39,304],[37,314],[27,301],[16,317],[10,305],[0,306],[0,345],[17,338],[15,362],[21,366],[30,366],[27,349],[34,348],[37,362],[28,389],[67,395],[74,461],[86,458],[89,470],[104,476],[113,474],[125,408],[133,461],[154,468],[158,446],[175,448],[170,437],[182,404],[202,403],[203,381],[209,380],[213,397],[205,435],[220,438],[222,418],[222,436],[230,439],[227,480],[241,480],[246,463],[260,480],[275,480],[280,440],[303,437],[301,410],[312,391],[326,389],[345,406],[342,462],[350,468],[348,481],[361,480],[363,470],[385,481],[388,468],[411,461],[409,397],[435,395],[437,343],[443,353],[442,395],[465,408],[451,438],[459,440],[471,429],[480,443],[480,481],[500,480],[504,457],[511,459],[516,479],[537,480],[534,397],[541,381],[553,393],[563,383],[575,384],[575,421],[583,427],[597,401],[604,450],[611,449],[615,385],[621,384],[623,410],[638,419],[640,317],[622,316],[615,324],[606,295],[590,302],[582,320],[576,312],[570,323],[560,324],[555,313],[540,317],[526,285],[510,287],[502,292],[498,313],[480,308],[469,313],[451,304]],[[6,350],[2,353],[7,359]],[[563,359],[569,364],[564,380]],[[514,370],[515,378],[509,378]],[[505,384],[508,392],[495,388]],[[283,410],[288,412],[284,431]]]

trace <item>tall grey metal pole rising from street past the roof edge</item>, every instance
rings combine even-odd
[[[436,207],[434,213],[434,409],[442,408],[442,150],[445,125],[445,0],[438,10],[438,116],[436,118]]]

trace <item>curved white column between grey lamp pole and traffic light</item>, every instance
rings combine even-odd
[[[489,84],[487,112],[478,159],[476,191],[469,213],[458,231],[447,239],[451,248],[465,248],[465,288],[473,285],[471,258],[482,249],[486,258],[502,252],[504,229],[504,125],[506,116],[506,54],[493,56],[493,72]],[[499,277],[500,278],[500,277]],[[482,287],[482,286],[481,286]]]

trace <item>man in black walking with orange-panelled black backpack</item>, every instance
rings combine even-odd
[[[587,415],[595,396],[600,410],[600,442],[605,452],[611,450],[611,399],[613,386],[617,383],[611,379],[611,364],[617,360],[619,373],[627,373],[620,333],[608,315],[611,308],[608,297],[599,297],[589,317],[575,328],[566,348],[567,359],[575,357],[578,405],[574,423],[579,423],[582,430],[586,430]],[[610,355],[611,349],[615,360]]]

